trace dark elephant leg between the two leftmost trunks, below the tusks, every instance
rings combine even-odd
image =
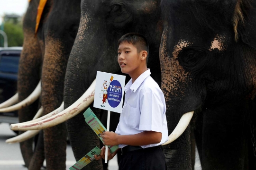
[[[43,166],[45,160],[44,151],[44,133],[43,130],[39,132],[37,139],[37,145],[35,148],[35,153],[30,161],[28,170],[40,170]]]

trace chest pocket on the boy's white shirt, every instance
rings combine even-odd
[[[124,122],[128,127],[136,127],[137,108],[131,107],[127,104],[125,109],[126,114],[124,116]]]

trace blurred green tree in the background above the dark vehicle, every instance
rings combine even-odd
[[[8,37],[8,46],[22,46],[23,45],[23,29],[22,23],[17,22],[17,19],[8,19],[4,23],[4,32],[7,34]],[[0,35],[0,42],[3,42],[3,37]],[[3,44],[0,44],[3,46]]]

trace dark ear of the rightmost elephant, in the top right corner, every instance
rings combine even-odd
[[[242,42],[256,49],[256,0],[243,1],[244,24],[239,22],[238,34]]]

